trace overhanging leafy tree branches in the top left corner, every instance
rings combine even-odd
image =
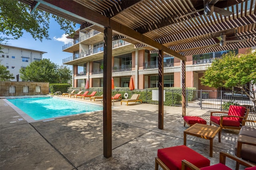
[[[30,6],[27,4],[17,0],[0,0],[0,33],[8,36],[0,37],[0,44],[3,40],[22,37],[23,31],[30,33],[34,39],[40,41],[44,38],[50,39],[48,33],[50,18],[54,18],[66,34],[74,33],[76,23],[72,21],[37,8],[30,14]]]

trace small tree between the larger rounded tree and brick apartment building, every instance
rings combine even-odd
[[[72,79],[72,71],[68,68],[68,66],[58,66],[58,83],[68,83]]]

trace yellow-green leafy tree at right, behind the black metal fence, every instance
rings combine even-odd
[[[216,59],[209,66],[202,78],[201,84],[210,87],[240,88],[256,106],[256,52],[235,55],[230,52]],[[250,87],[245,86],[249,83]]]

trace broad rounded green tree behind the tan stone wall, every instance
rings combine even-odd
[[[57,65],[49,59],[34,61],[26,68],[20,68],[20,78],[29,82],[56,83],[58,81]]]

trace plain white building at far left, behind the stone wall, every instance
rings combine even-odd
[[[20,68],[28,66],[33,61],[42,60],[42,55],[46,52],[10,45],[1,45],[3,47],[0,53],[1,64],[6,66],[7,70],[13,74],[11,81],[22,81],[20,78]]]

